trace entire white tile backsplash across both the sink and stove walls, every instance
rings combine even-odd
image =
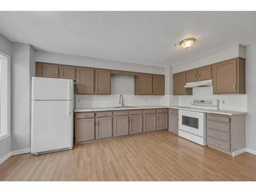
[[[76,95],[76,108],[100,108],[119,106],[120,94],[113,95]],[[212,86],[193,88],[193,95],[131,95],[123,94],[126,106],[191,106],[194,99],[219,99],[220,110],[247,112],[247,94],[212,94]]]

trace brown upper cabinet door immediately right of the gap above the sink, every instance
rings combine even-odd
[[[139,94],[152,95],[152,75],[139,74]]]

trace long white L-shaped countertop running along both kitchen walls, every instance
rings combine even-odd
[[[143,110],[143,109],[159,109],[159,108],[171,108],[185,111],[196,111],[203,113],[214,113],[219,115],[244,115],[247,112],[239,111],[225,111],[225,110],[208,110],[208,109],[199,109],[199,108],[190,108],[187,106],[164,106],[164,105],[152,105],[152,106],[136,106],[134,108],[114,108],[114,107],[105,107],[105,108],[76,108],[74,112],[96,112],[96,111],[118,111],[118,110]]]

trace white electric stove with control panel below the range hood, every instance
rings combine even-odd
[[[190,103],[193,107],[179,110],[179,136],[206,145],[206,115],[204,109],[218,110],[218,99],[195,99]],[[196,111],[193,111],[195,108]],[[189,109],[186,110],[186,109]],[[201,112],[199,112],[202,109]]]

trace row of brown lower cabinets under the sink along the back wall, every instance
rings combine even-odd
[[[168,109],[75,113],[75,144],[168,129]]]

